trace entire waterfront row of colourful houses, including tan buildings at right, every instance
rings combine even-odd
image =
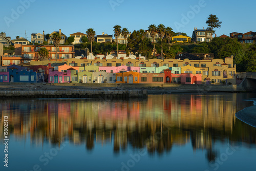
[[[227,58],[230,60],[232,58]],[[44,63],[47,61],[41,61]],[[221,83],[236,83],[236,70],[227,63],[216,62],[214,66],[191,66],[189,62],[181,67],[152,66],[133,67],[73,65],[74,62],[47,63],[45,65],[28,65],[20,63],[0,67],[0,82],[80,82],[80,83],[185,83],[210,84],[213,80]],[[97,63],[96,63],[97,64]]]

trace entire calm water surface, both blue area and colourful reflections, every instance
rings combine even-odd
[[[255,97],[0,100],[8,170],[255,170],[256,128],[234,116],[253,103],[242,99]]]

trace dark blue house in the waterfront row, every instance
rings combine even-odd
[[[30,71],[19,71],[15,67],[9,68],[9,81],[10,82],[36,82],[36,72]]]

